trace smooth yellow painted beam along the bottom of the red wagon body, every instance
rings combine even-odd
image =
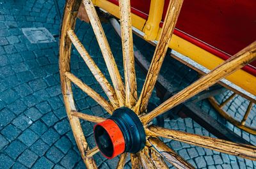
[[[111,15],[119,18],[118,6],[115,4],[106,0],[95,0],[95,5],[99,6],[103,10],[108,11],[111,13]],[[138,17],[132,13],[132,26],[136,27],[140,31],[143,31],[146,22],[147,20],[144,18]],[[158,31],[156,40],[159,40],[160,34],[161,28]],[[197,47],[193,43],[190,43],[189,41],[186,41],[175,34],[172,36],[169,47],[182,55],[188,56],[193,61],[198,62],[209,70],[214,69],[224,61],[220,57],[213,55],[200,47]],[[250,73],[244,70],[237,70],[236,72],[232,73],[232,75],[228,75],[226,79],[243,88],[244,90],[256,95],[256,77]]]

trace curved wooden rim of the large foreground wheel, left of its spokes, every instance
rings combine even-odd
[[[63,101],[65,103],[68,119],[72,128],[77,147],[81,153],[82,159],[87,168],[97,168],[95,161],[92,158],[86,158],[85,152],[89,150],[81,124],[78,117],[71,115],[72,110],[76,110],[74,98],[72,95],[72,87],[70,80],[65,77],[65,72],[70,71],[70,49],[71,41],[67,35],[67,31],[74,29],[76,24],[77,10],[81,4],[79,0],[67,0],[65,4],[65,12],[63,15],[61,35],[60,35],[60,78],[61,91],[63,93]]]

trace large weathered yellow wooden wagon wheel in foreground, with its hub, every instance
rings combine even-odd
[[[102,51],[113,87],[99,70],[92,57],[88,54],[74,33],[77,10],[83,2],[88,13],[90,23]],[[134,55],[132,44],[131,10],[129,0],[120,0],[120,19],[122,30],[122,49],[124,58],[125,85],[115,63],[115,59],[106,40],[106,36],[99,22],[92,0],[67,0],[60,37],[60,77],[61,89],[65,107],[74,133],[77,146],[87,168],[97,168],[93,155],[102,152],[107,158],[114,158],[121,154],[117,168],[123,168],[127,154],[131,153],[132,168],[168,168],[164,159],[177,168],[193,168],[187,161],[175,151],[165,145],[158,137],[170,138],[180,142],[198,145],[214,151],[240,156],[242,158],[256,160],[256,147],[244,145],[209,136],[200,136],[191,133],[176,131],[173,129],[160,128],[152,125],[152,120],[167,110],[179,105],[189,98],[204,91],[215,84],[221,78],[242,68],[248,62],[256,58],[256,41],[232,58],[223,62],[210,73],[200,78],[193,84],[178,92],[151,112],[147,112],[148,100],[156,84],[168,43],[172,37],[173,29],[179,16],[182,0],[171,1],[164,20],[163,31],[157,43],[154,57],[150,64],[148,74],[137,98],[136,75],[134,71]],[[70,49],[72,43],[86,62],[95,79],[99,82],[103,91],[108,96],[104,99],[88,85],[70,71]],[[82,89],[88,96],[93,98],[106,112],[111,114],[109,119],[77,112],[71,83]],[[98,123],[94,129],[97,147],[89,149],[83,135],[79,119]]]

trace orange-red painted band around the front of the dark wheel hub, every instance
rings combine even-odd
[[[106,132],[108,133],[108,135],[111,139],[111,142],[113,144],[112,156],[106,156],[103,152],[101,152],[102,155],[108,159],[112,159],[112,158],[115,158],[116,156],[118,156],[119,154],[122,154],[125,151],[125,139],[124,139],[124,135],[123,135],[121,129],[116,124],[116,122],[111,119],[107,119],[106,121],[96,124],[94,126],[93,130],[95,130],[95,128],[97,126],[101,126],[102,128],[104,128],[106,130]],[[95,140],[96,140],[96,138],[95,138]],[[97,145],[97,146],[99,147],[99,145]]]

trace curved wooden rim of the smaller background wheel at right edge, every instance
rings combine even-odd
[[[214,107],[214,109],[220,113],[220,115],[225,118],[228,122],[230,122],[231,124],[233,124],[234,126],[236,126],[239,129],[243,129],[244,131],[251,133],[253,135],[256,135],[256,128],[252,128],[250,126],[246,126],[241,124],[241,121],[237,121],[236,119],[234,119],[231,115],[228,114],[227,111],[223,110],[223,107],[220,106],[220,104],[218,103],[218,101],[216,101],[216,99],[214,97],[208,98],[209,102],[211,103],[212,107]],[[250,104],[249,104],[250,105]]]

